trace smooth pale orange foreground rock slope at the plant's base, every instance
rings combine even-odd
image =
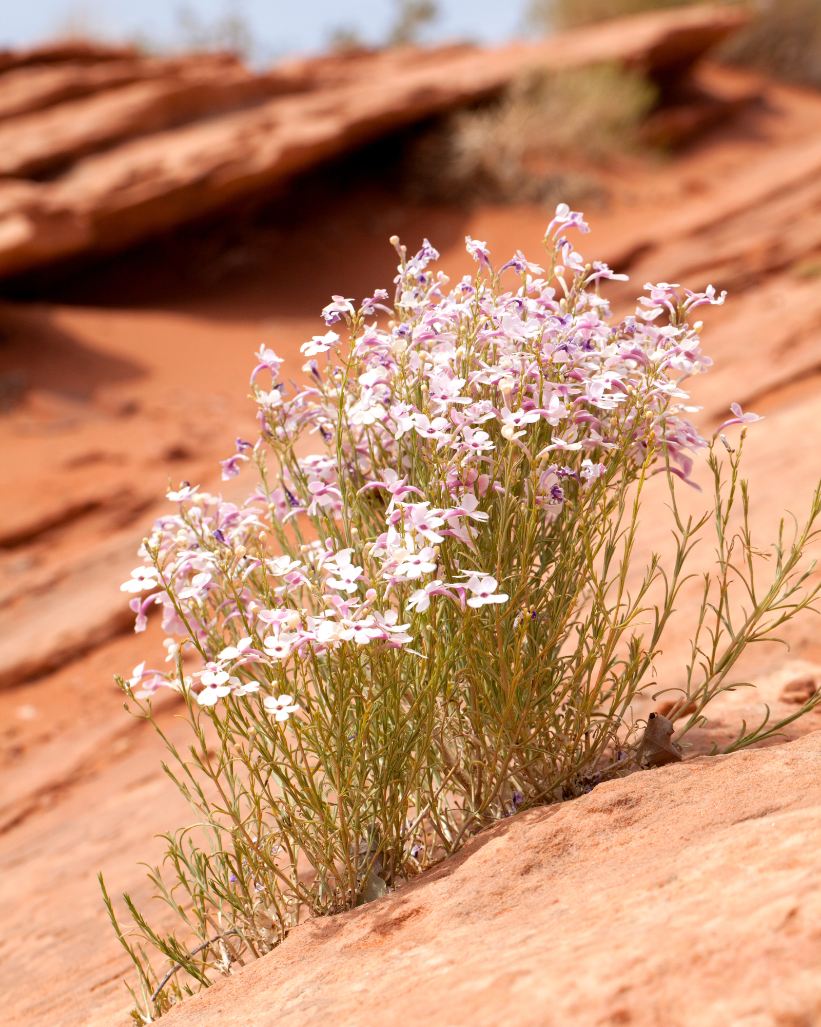
[[[821,732],[600,785],[297,928],[169,1027],[810,1024]]]

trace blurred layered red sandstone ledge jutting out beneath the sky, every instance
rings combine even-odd
[[[228,58],[141,63],[118,50],[89,66],[70,47],[65,62],[53,50],[40,65],[36,55],[16,64],[8,55],[0,73],[0,277],[120,250],[260,195],[529,70],[610,61],[669,86],[743,18],[706,5],[532,45],[400,47],[295,62],[268,75]]]

